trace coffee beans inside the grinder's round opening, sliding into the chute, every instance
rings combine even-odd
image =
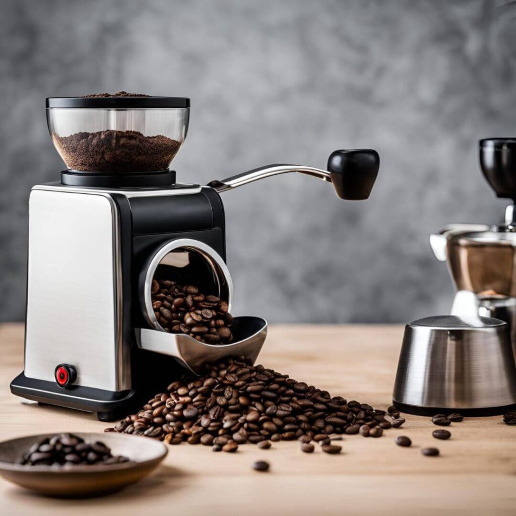
[[[152,308],[160,326],[170,333],[185,333],[206,344],[231,344],[233,316],[228,303],[204,295],[195,285],[153,280]]]

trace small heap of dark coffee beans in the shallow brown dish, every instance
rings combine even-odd
[[[73,433],[61,433],[33,444],[18,463],[30,466],[73,466],[118,464],[128,460],[127,457],[111,455],[111,450],[102,442],[86,443]]]

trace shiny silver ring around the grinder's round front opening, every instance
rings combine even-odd
[[[170,240],[163,247],[160,247],[152,260],[147,267],[147,271],[145,274],[145,281],[143,283],[143,299],[145,304],[145,309],[147,313],[147,318],[152,325],[153,328],[157,330],[162,330],[162,326],[156,319],[154,315],[154,310],[152,309],[152,295],[151,295],[151,284],[154,278],[154,273],[156,272],[156,268],[159,263],[164,259],[164,257],[174,251],[175,249],[184,248],[187,250],[195,251],[201,254],[204,260],[208,263],[208,265],[212,268],[215,274],[215,280],[217,281],[217,287],[219,289],[219,294],[222,292],[223,284],[221,282],[221,278],[219,277],[219,272],[217,271],[217,267],[220,269],[220,272],[223,276],[225,283],[228,288],[228,311],[231,312],[231,306],[233,302],[233,280],[231,279],[231,275],[228,269],[228,266],[222,260],[222,256],[213,249],[213,247],[204,244],[199,240],[194,240],[193,238],[176,238],[175,240]],[[169,335],[166,333],[166,335]],[[197,342],[197,341],[196,341]]]

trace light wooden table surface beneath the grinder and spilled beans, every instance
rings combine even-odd
[[[375,408],[391,404],[402,326],[272,326],[259,362],[292,378],[358,399]],[[39,407],[9,392],[23,367],[23,326],[0,326],[0,440],[58,431],[102,431],[92,414]],[[380,439],[345,436],[340,455],[299,443],[273,443],[268,450],[240,446],[215,454],[202,445],[170,446],[151,477],[122,492],[86,500],[31,494],[0,479],[5,514],[516,514],[516,427],[501,416],[452,423],[448,441],[432,438],[429,418],[407,415],[399,429]],[[412,439],[401,448],[394,437]],[[421,448],[437,446],[440,457]],[[251,469],[270,462],[268,473]],[[71,512],[68,512],[71,514]]]

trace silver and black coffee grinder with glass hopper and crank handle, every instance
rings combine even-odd
[[[270,165],[206,186],[176,182],[170,163],[188,129],[187,98],[50,98],[50,134],[67,169],[29,197],[24,371],[11,392],[112,421],[188,367],[245,354],[266,322],[235,317],[234,342],[167,333],[151,302],[154,278],[196,284],[233,303],[220,192],[286,172],[367,199],[376,151],[338,150],[328,170]],[[193,342],[191,342],[193,341]]]

